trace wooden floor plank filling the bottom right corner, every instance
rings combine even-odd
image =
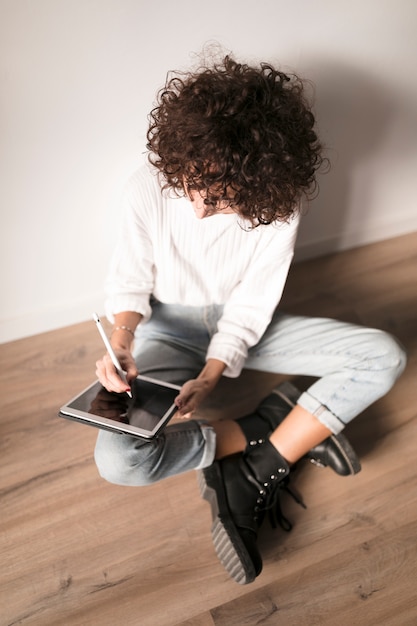
[[[403,525],[400,537],[396,531],[386,532],[301,572],[280,577],[244,598],[213,609],[214,624],[413,626],[415,528],[415,523]],[[410,561],[411,569],[407,566]]]

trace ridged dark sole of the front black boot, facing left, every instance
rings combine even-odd
[[[197,471],[201,497],[211,507],[211,536],[214,549],[223,567],[240,585],[255,580],[257,572],[227,506],[220,469],[216,463]],[[259,572],[258,572],[259,574]]]

